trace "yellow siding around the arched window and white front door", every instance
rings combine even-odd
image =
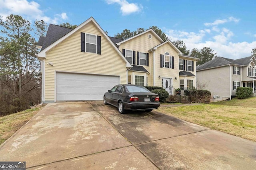
[[[164,55],[166,52],[174,57],[174,69],[160,67],[160,55]],[[155,86],[162,87],[162,78],[172,78],[172,86],[174,88],[179,88],[179,56],[177,51],[175,51],[168,43],[158,47],[155,51],[155,64]],[[158,78],[158,76],[161,76],[161,78]],[[177,77],[177,80],[174,79],[175,77]]]

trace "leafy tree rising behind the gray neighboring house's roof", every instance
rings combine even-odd
[[[197,61],[197,65],[202,65],[208,61],[211,61],[213,58],[216,58],[217,53],[214,53],[214,50],[210,47],[204,47],[200,51],[198,49],[192,49],[190,55],[200,59]]]

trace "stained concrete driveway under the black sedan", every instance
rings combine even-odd
[[[256,143],[156,111],[52,103],[0,146],[27,169],[255,169]]]

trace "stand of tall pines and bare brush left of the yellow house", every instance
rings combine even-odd
[[[28,20],[11,14],[0,26],[0,115],[5,115],[40,102],[40,64]]]

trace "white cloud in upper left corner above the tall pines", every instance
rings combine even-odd
[[[28,0],[0,0],[0,15],[5,19],[10,14],[20,15],[28,20],[44,20],[47,23],[58,23],[60,19],[68,18],[66,13],[56,14],[58,17],[50,18],[40,10],[40,4]]]

